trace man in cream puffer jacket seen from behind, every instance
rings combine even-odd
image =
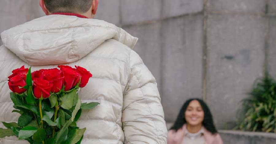
[[[1,33],[1,121],[11,113],[7,77],[15,68],[79,65],[93,74],[79,97],[101,103],[83,111],[82,144],[165,144],[167,128],[155,78],[132,48],[137,38],[102,20],[92,19],[98,0],[40,0],[47,16]],[[2,143],[27,143],[15,137]],[[1,143],[1,142],[0,142]]]

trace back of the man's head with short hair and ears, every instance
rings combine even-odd
[[[40,0],[39,5],[46,15],[63,12],[93,18],[97,12],[98,0]]]

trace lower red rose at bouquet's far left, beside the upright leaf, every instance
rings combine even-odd
[[[11,79],[9,79],[8,85],[10,87],[10,90],[14,93],[24,93],[26,91],[24,87],[26,85],[26,75],[25,74],[18,74]]]

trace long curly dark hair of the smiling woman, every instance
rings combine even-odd
[[[180,129],[184,124],[187,123],[186,119],[185,119],[185,116],[184,116],[184,113],[186,112],[186,109],[187,109],[188,105],[190,104],[190,102],[193,101],[193,100],[197,100],[200,103],[200,105],[201,105],[201,107],[204,111],[204,119],[203,119],[202,125],[208,131],[210,131],[212,134],[216,134],[217,129],[216,129],[214,123],[213,123],[213,116],[211,114],[211,111],[208,108],[207,104],[199,98],[191,98],[183,104],[182,108],[179,111],[177,119],[174,122],[174,125],[171,127],[171,130],[178,131],[178,129]]]

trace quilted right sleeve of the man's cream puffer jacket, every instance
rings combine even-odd
[[[129,68],[122,111],[125,144],[166,144],[167,127],[156,80],[133,50]]]

